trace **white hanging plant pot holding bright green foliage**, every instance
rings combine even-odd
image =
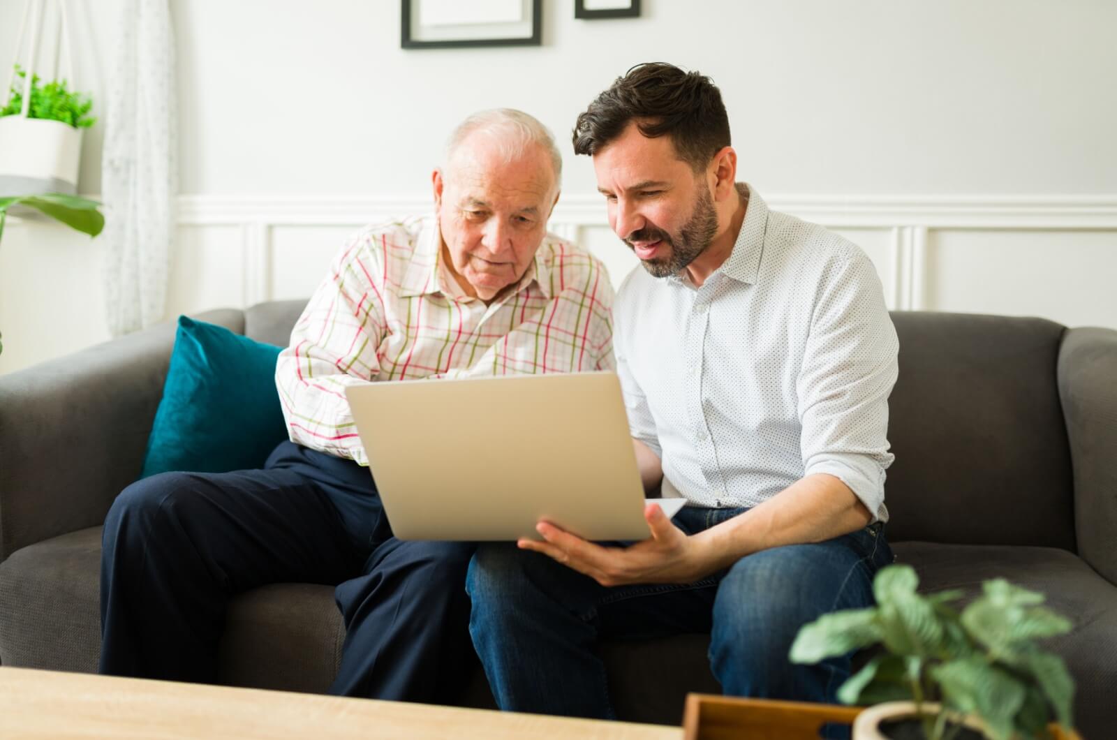
[[[77,193],[82,130],[60,121],[0,116],[0,198]]]

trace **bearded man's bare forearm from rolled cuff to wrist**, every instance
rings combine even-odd
[[[872,514],[839,478],[824,473],[809,475],[739,516],[696,534],[701,576],[728,568],[753,552],[821,542],[870,521]]]

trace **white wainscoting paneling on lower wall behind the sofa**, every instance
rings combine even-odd
[[[839,197],[773,196],[775,210],[822,224],[860,245],[880,274],[891,309],[1044,315],[1065,323],[1117,326],[1117,196]],[[344,236],[362,225],[430,209],[423,198],[183,196],[180,249],[208,241],[211,229],[238,227],[239,250],[182,255],[203,263],[175,281],[212,271],[241,276],[239,292],[220,283],[225,303],[308,295]],[[599,196],[567,196],[551,229],[601,257],[614,284],[636,258],[609,229]],[[1015,252],[1019,250],[1019,254]],[[1050,279],[1023,263],[1048,263]],[[212,269],[210,269],[212,268]],[[1075,277],[1077,276],[1077,277]],[[202,294],[211,300],[212,291]],[[199,295],[197,290],[172,291]],[[208,307],[174,302],[170,313]]]

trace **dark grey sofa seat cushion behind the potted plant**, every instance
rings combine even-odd
[[[961,588],[965,604],[981,594],[982,581],[1006,578],[1047,595],[1047,606],[1075,623],[1068,635],[1044,646],[1062,655],[1078,685],[1075,721],[1086,738],[1111,732],[1117,696],[1117,588],[1081,558],[1054,548],[957,545],[899,542],[899,562],[919,573],[923,592]]]

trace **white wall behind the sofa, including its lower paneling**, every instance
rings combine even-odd
[[[69,2],[92,18],[78,82],[99,94],[121,2]],[[1117,326],[1117,3],[645,0],[639,19],[583,21],[545,0],[542,47],[408,51],[397,0],[171,4],[184,197],[169,315],[306,295],[344,233],[428,202],[467,113],[529,111],[565,153],[600,89],[662,59],[714,77],[742,177],[861,244],[894,307]],[[21,8],[0,0],[0,64]],[[99,191],[99,129],[84,192]],[[592,168],[565,159],[555,225],[619,279],[631,262]],[[9,226],[0,371],[107,336],[102,260],[97,241]]]

